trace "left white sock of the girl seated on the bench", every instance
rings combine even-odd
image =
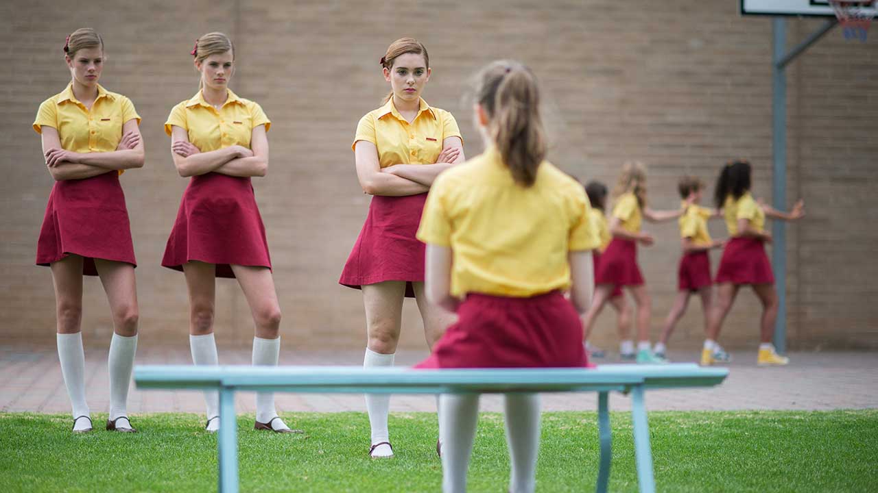
[[[466,491],[472,441],[479,420],[479,394],[443,394],[439,397],[442,430],[443,493]]]

